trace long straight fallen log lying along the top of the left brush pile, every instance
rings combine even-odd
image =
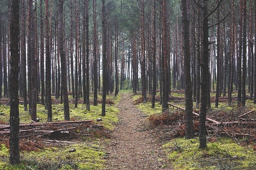
[[[51,126],[51,125],[68,125],[68,124],[78,124],[78,123],[92,123],[91,120],[89,121],[66,121],[66,122],[49,122],[49,123],[30,123],[30,124],[20,124],[20,127],[33,127],[33,126]],[[2,125],[0,130],[10,128],[10,125]]]

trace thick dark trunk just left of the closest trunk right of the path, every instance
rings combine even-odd
[[[181,19],[182,19],[182,36],[183,36],[183,53],[184,53],[184,73],[185,73],[185,106],[186,106],[186,132],[187,139],[193,138],[193,100],[192,100],[192,83],[190,76],[190,43],[189,43],[189,20],[187,12],[187,0],[181,0]]]

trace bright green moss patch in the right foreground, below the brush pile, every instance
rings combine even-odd
[[[163,147],[168,147],[168,158],[172,161],[174,169],[179,170],[243,169],[256,165],[256,153],[253,148],[240,146],[229,138],[218,138],[216,142],[209,142],[206,149],[199,148],[198,139],[185,138],[174,139]]]

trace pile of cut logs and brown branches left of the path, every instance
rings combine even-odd
[[[0,125],[0,144],[9,147],[9,135],[10,125]],[[108,132],[90,120],[20,124],[20,149],[32,151],[47,144],[74,144],[94,135],[108,136]]]

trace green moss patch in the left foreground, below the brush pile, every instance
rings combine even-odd
[[[99,147],[99,146],[97,146]],[[69,152],[71,148],[75,148],[75,152]],[[106,154],[102,150],[94,149],[85,143],[72,144],[62,148],[45,148],[39,152],[21,152],[21,165],[12,166],[8,162],[7,155],[0,160],[1,170],[20,170],[30,166],[33,169],[61,169],[61,170],[91,170],[103,169]]]

